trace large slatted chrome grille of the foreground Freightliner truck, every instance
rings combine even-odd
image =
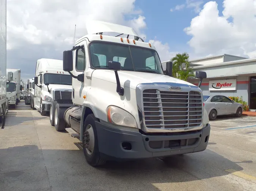
[[[147,128],[188,128],[202,124],[201,92],[143,91],[144,121]]]

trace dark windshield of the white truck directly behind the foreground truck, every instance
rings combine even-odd
[[[66,74],[44,74],[44,83],[72,85],[72,76]]]

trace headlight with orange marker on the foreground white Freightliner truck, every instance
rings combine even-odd
[[[134,117],[129,112],[116,106],[108,106],[107,117],[108,122],[115,125],[137,128],[137,123]]]

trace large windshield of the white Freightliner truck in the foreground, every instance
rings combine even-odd
[[[108,61],[121,63],[121,70],[163,74],[157,52],[153,49],[119,45],[116,43],[90,43],[91,65],[108,68]]]

